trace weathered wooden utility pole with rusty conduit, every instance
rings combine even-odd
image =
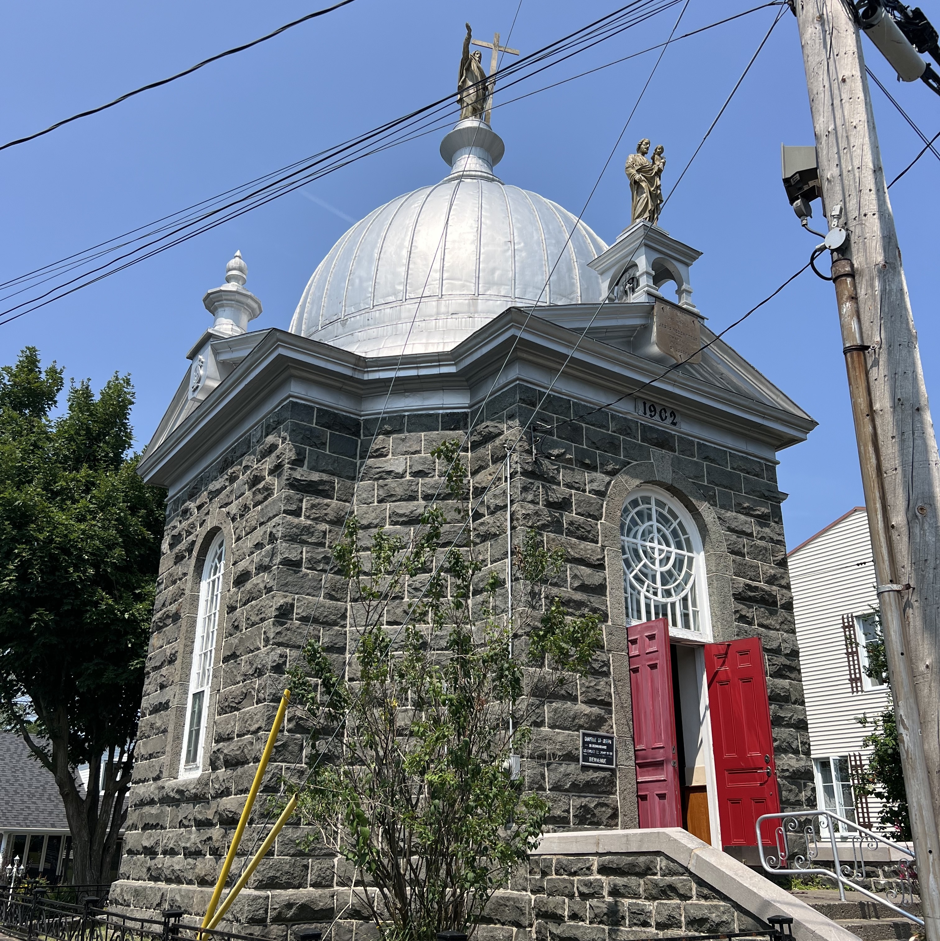
[[[790,2],[826,214],[849,233],[833,273],[920,897],[929,941],[940,941],[940,459],[861,36],[841,0]]]

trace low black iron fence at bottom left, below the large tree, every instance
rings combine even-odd
[[[183,911],[169,908],[162,918],[121,915],[100,907],[101,899],[86,896],[82,904],[4,893],[0,926],[26,941],[262,941],[257,936],[203,931],[183,924]]]

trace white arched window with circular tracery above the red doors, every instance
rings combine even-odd
[[[663,491],[630,493],[620,518],[630,623],[666,618],[670,630],[709,635],[702,542],[684,507]]]

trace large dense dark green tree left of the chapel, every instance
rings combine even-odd
[[[62,375],[35,347],[0,368],[0,720],[55,776],[74,880],[95,884],[131,784],[163,493],[128,455],[130,378],[72,382],[55,414]]]

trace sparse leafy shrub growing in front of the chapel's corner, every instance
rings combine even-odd
[[[497,613],[501,582],[472,541],[444,548],[454,520],[467,522],[466,469],[456,441],[435,455],[450,467],[451,524],[430,508],[406,544],[382,529],[368,539],[352,519],[335,557],[355,658],[347,670],[311,643],[292,680],[312,728],[311,773],[299,789],[300,811],[317,828],[308,848],[324,845],[353,865],[358,885],[370,886],[360,901],[387,941],[472,930],[526,859],[549,813],[523,786],[532,722],[587,672],[601,638],[596,614],[572,617],[552,594],[564,553],[534,532],[515,560],[513,622]]]

